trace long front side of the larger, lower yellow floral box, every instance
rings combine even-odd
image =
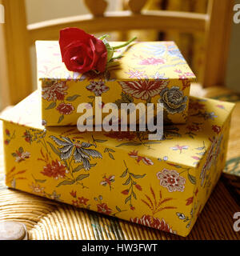
[[[53,130],[5,123],[6,185],[74,206],[186,236],[194,170]],[[151,149],[150,149],[151,150]]]

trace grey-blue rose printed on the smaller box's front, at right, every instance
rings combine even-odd
[[[186,109],[188,97],[184,96],[179,87],[165,88],[161,91],[160,96],[158,102],[163,104],[168,113],[180,113]]]

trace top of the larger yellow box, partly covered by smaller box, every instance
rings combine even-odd
[[[164,126],[162,141],[148,140],[145,132],[84,132],[74,126],[42,126],[41,92],[35,91],[18,105],[6,111],[0,117],[8,122],[18,123],[39,130],[51,130],[56,134],[64,134],[69,138],[102,141],[108,147],[118,147],[128,152],[138,151],[139,156],[156,158],[158,161],[172,162],[177,165],[195,167],[210,148],[213,138],[218,138],[234,104],[207,98],[190,97],[190,114],[186,125]],[[230,126],[230,124],[227,124]],[[103,146],[106,146],[103,145]],[[134,154],[134,153],[133,153]]]

